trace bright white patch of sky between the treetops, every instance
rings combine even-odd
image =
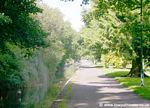
[[[83,7],[80,6],[82,0],[74,0],[73,2],[64,2],[61,0],[43,0],[43,3],[47,4],[51,8],[59,8],[64,14],[64,20],[69,21],[76,31],[80,31],[81,27],[84,25],[81,17]]]

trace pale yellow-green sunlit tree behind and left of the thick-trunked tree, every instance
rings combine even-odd
[[[96,19],[94,13],[90,11],[83,15],[83,20],[86,22],[86,28],[81,34],[83,34],[85,44],[90,39],[85,46],[91,45],[89,52],[95,50],[95,59],[100,60],[101,55],[109,53],[113,54],[113,57],[118,56],[124,59],[122,65],[131,59],[129,56],[131,52],[129,40],[131,39],[120,32],[122,23],[117,19],[113,11],[109,11],[99,19]]]

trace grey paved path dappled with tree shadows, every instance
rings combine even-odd
[[[84,61],[72,78],[68,108],[121,108],[119,105],[124,105],[122,108],[130,108],[131,105],[136,105],[131,108],[150,108],[137,107],[139,104],[148,105],[150,101],[122,87],[113,78],[107,78],[102,69],[89,67],[91,65]]]

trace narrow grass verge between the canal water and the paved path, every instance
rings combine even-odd
[[[56,100],[58,94],[61,92],[66,81],[74,74],[77,68],[78,66],[76,64],[70,65],[69,67],[65,68],[64,77],[61,79],[56,79],[57,81],[54,84],[49,85],[49,89],[44,99],[33,108],[49,108],[51,104],[53,103],[53,101]],[[66,108],[65,103],[66,103],[68,94],[71,91],[71,88],[72,86],[69,85],[67,88],[67,92],[63,97],[63,101],[60,102],[59,104],[59,108]]]

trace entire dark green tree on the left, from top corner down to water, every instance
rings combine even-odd
[[[42,12],[36,0],[1,0],[0,3],[0,91],[22,85],[19,58],[10,48],[16,45],[23,55],[32,50],[46,47],[46,33],[32,15]]]

